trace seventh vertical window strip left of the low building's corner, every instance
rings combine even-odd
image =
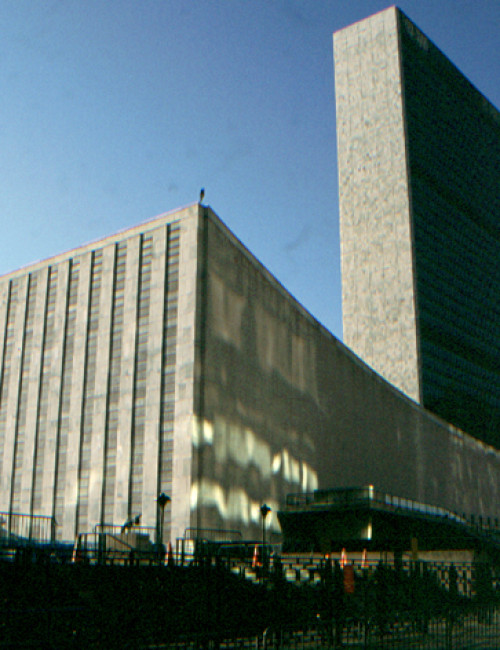
[[[18,512],[21,507],[21,482],[24,462],[24,447],[26,436],[26,415],[28,407],[29,371],[31,353],[33,350],[33,326],[37,298],[38,274],[28,276],[28,295],[26,296],[26,314],[24,318],[23,346],[21,351],[21,371],[19,381],[19,398],[17,404],[16,432],[14,443],[14,459],[12,465],[10,510]],[[30,450],[27,450],[29,453]]]

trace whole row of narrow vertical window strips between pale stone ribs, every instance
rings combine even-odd
[[[165,453],[171,453],[171,442],[173,439],[173,417],[174,417],[174,369],[175,369],[175,335],[177,321],[177,296],[172,291],[173,287],[178,284],[178,259],[179,259],[179,233],[175,227],[169,227],[169,250],[168,264],[165,276],[165,304],[164,304],[164,343],[163,353],[163,393],[161,396],[161,419],[159,433],[161,436],[160,446]],[[137,463],[135,467],[142,466],[142,455],[144,453],[144,424],[145,412],[143,409],[144,397],[146,395],[146,378],[148,372],[147,358],[147,341],[149,333],[149,309],[150,309],[150,283],[151,283],[151,264],[153,260],[153,238],[144,237],[142,242],[142,268],[141,268],[141,286],[139,294],[139,304],[137,313],[137,349],[135,365],[135,421],[133,427],[134,434],[134,454]],[[12,487],[12,506],[19,508],[21,506],[21,484],[27,480],[25,477],[26,464],[25,460],[25,435],[26,416],[28,403],[36,402],[36,397],[32,399],[29,393],[30,387],[33,391],[38,391],[33,382],[30,383],[30,374],[32,375],[32,361],[34,355],[40,353],[40,349],[34,349],[33,336],[40,334],[43,336],[41,341],[42,358],[40,369],[39,386],[39,404],[37,412],[36,431],[29,432],[31,436],[37,436],[35,442],[35,455],[33,458],[32,470],[32,509],[33,512],[40,511],[42,507],[47,510],[47,503],[43,501],[47,496],[43,494],[43,477],[44,469],[47,464],[52,465],[54,474],[54,492],[53,492],[53,513],[59,524],[63,522],[64,509],[67,498],[66,494],[66,474],[68,469],[69,453],[68,442],[70,435],[74,432],[71,430],[71,422],[74,416],[71,415],[71,409],[75,409],[73,396],[74,385],[74,357],[81,354],[79,348],[81,343],[77,343],[77,312],[85,308],[85,301],[80,296],[80,260],[78,258],[69,262],[68,266],[68,291],[65,298],[66,319],[64,322],[65,336],[64,348],[60,354],[55,353],[55,346],[60,345],[60,333],[56,331],[60,327],[57,322],[56,311],[58,301],[58,278],[59,283],[62,275],[58,273],[59,267],[49,267],[48,285],[46,291],[37,290],[42,271],[33,273],[29,276],[26,296],[23,282],[25,278],[17,278],[11,281],[9,287],[8,313],[6,319],[6,330],[4,337],[3,354],[1,359],[1,379],[0,379],[0,471],[4,459],[4,443],[6,438],[7,409],[11,396],[9,390],[11,385],[11,369],[16,374],[19,372],[16,367],[16,353],[19,343],[19,322],[24,318],[24,341],[22,344],[22,359],[17,361],[21,363],[20,382],[18,386],[18,417],[17,417],[17,439],[16,448],[13,458],[13,481]],[[93,431],[93,410],[95,399],[95,379],[98,370],[98,364],[101,362],[101,355],[98,350],[98,333],[101,314],[101,289],[103,285],[103,254],[102,251],[95,251],[91,264],[90,291],[88,301],[88,321],[87,321],[87,343],[85,355],[85,381],[83,386],[83,409],[81,421],[81,448],[79,451],[79,503],[78,503],[78,527],[85,529],[89,525],[88,521],[88,486],[90,477],[90,461],[92,449]],[[121,242],[116,247],[115,259],[115,286],[113,293],[113,324],[110,336],[109,351],[109,384],[108,384],[108,405],[107,405],[107,424],[106,424],[106,457],[103,485],[103,517],[105,520],[113,519],[114,506],[114,484],[116,479],[116,447],[119,424],[119,400],[120,400],[120,377],[121,377],[121,351],[124,325],[124,303],[125,303],[125,283],[127,276],[127,247],[126,242]],[[44,306],[39,301],[46,300]],[[59,300],[62,300],[59,297]],[[23,315],[23,303],[26,304],[26,313]],[[44,313],[44,331],[35,332],[35,314]],[[61,354],[62,353],[62,354]],[[60,378],[60,399],[57,407],[58,430],[56,433],[49,431],[49,398],[51,394],[51,379],[54,381],[55,369],[53,363],[59,358],[61,370],[57,377]],[[18,367],[18,366],[17,366]],[[56,377],[56,380],[57,380]],[[53,391],[53,386],[52,386]],[[12,407],[10,407],[12,408]],[[54,405],[50,405],[51,415],[54,417]],[[76,413],[76,411],[75,411]],[[30,425],[31,426],[31,423]],[[55,463],[50,463],[46,457],[49,448],[47,447],[47,436],[56,435],[56,459]],[[31,449],[31,447],[30,447]],[[72,459],[72,464],[74,459]],[[131,474],[130,498],[131,510],[141,509],[142,503],[142,471]],[[165,459],[160,461],[159,484],[169,490],[171,482],[171,462]],[[26,485],[24,485],[26,487]],[[24,506],[24,504],[23,504]]]

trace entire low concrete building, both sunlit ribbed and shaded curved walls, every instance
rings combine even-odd
[[[161,491],[164,540],[260,539],[262,503],[277,531],[288,493],[363,484],[499,515],[499,452],[371,371],[208,208],[4,276],[0,324],[0,510],[61,539],[154,528]]]

